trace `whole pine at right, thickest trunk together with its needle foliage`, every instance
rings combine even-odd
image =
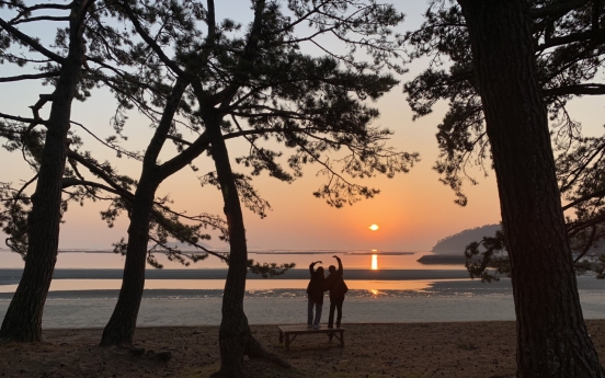
[[[578,256],[602,234],[602,180],[596,179],[603,169],[602,138],[582,137],[566,105],[574,96],[605,93],[603,84],[592,82],[602,71],[604,4],[458,3],[463,8],[432,2],[426,22],[408,34],[411,57],[432,59],[406,92],[415,116],[429,114],[441,99],[449,101],[438,126],[442,154],[435,169],[458,204],[467,202],[463,180],[476,183],[466,169],[492,158],[504,233],[469,245],[469,257],[480,253],[479,244],[484,248],[484,259],[469,262],[469,271],[489,280],[488,263],[512,276],[520,376],[601,377],[578,303],[568,234]],[[560,194],[570,201],[566,207]],[[561,209],[571,208],[577,217],[566,225]]]

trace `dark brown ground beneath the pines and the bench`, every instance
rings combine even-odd
[[[603,360],[605,320],[586,324]],[[255,337],[293,368],[246,359],[247,374],[253,378],[515,376],[515,323],[511,321],[343,328],[343,348],[326,334],[307,334],[297,336],[286,351],[276,325],[252,325]],[[140,328],[135,334],[138,351],[100,347],[101,333],[102,329],[44,330],[43,342],[0,345],[0,376],[189,378],[208,377],[220,365],[218,327]],[[164,352],[170,352],[169,360]]]

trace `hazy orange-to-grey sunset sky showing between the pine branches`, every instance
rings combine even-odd
[[[228,8],[226,4],[228,3]],[[244,18],[249,13],[246,1],[217,2],[217,19],[225,16]],[[402,24],[402,31],[411,30],[421,23],[420,14],[426,7],[422,1],[398,1],[398,7],[408,14]],[[5,12],[0,11],[0,14]],[[410,68],[410,73],[401,77],[406,82],[420,72],[422,64]],[[8,76],[7,69],[1,76]],[[50,88],[38,89],[31,83],[2,84],[0,91],[0,112],[30,116],[27,106],[35,103],[38,93],[48,93]],[[478,186],[466,184],[469,204],[459,207],[454,204],[454,193],[438,182],[438,175],[432,170],[437,158],[435,140],[436,125],[441,123],[445,104],[438,104],[435,112],[416,122],[412,122],[412,113],[408,107],[402,85],[375,104],[381,113],[377,124],[395,130],[391,144],[407,151],[418,151],[422,161],[410,173],[397,175],[388,180],[384,176],[370,179],[370,186],[379,187],[381,193],[374,199],[362,201],[353,206],[340,209],[329,207],[322,199],[312,196],[322,183],[322,177],[316,176],[319,167],[310,165],[304,177],[293,184],[278,182],[262,175],[254,179],[256,188],[266,198],[273,210],[265,219],[246,210],[246,226],[251,249],[377,249],[426,251],[435,242],[467,228],[495,224],[500,221],[500,208],[495,179],[493,174],[482,177],[479,171],[473,172],[480,179]],[[101,136],[111,134],[109,119],[115,110],[113,98],[105,91],[95,91],[93,98],[84,103],[75,102],[72,119],[96,130]],[[590,135],[598,135],[602,113],[602,101],[586,99],[571,104],[572,115],[583,123]],[[99,142],[77,131],[84,139],[84,149],[100,150]],[[125,147],[140,149],[137,142],[149,137],[148,122],[137,114],[132,114],[126,127],[130,137]],[[144,137],[140,137],[144,136]],[[243,145],[240,145],[243,146]],[[229,141],[231,158],[240,156],[237,142]],[[170,149],[169,149],[170,151]],[[170,153],[164,154],[164,159]],[[2,181],[19,183],[30,180],[33,173],[22,163],[18,153],[0,152],[4,161],[0,165]],[[138,179],[138,162],[116,160],[111,153],[107,159],[119,163],[119,171]],[[195,162],[201,171],[212,168],[212,161],[203,157]],[[235,167],[236,171],[244,172],[243,168]],[[216,188],[201,188],[197,180],[199,173],[184,169],[167,180],[158,195],[170,194],[174,198],[173,208],[187,210],[190,214],[202,211],[221,214],[221,198]],[[106,205],[85,204],[84,207],[71,205],[61,226],[60,248],[106,248],[112,242],[126,237],[127,219],[123,217],[113,229],[109,229],[101,220],[99,211]],[[380,226],[378,231],[370,231],[372,224]],[[225,247],[216,236],[207,242],[213,247]]]

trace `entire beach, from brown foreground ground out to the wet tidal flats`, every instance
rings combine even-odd
[[[94,274],[99,278],[78,279],[75,276],[81,274],[71,271],[55,280],[58,286],[49,293],[43,317],[44,341],[1,345],[0,378],[193,378],[208,377],[218,369],[222,280],[193,276],[174,282],[168,277],[150,279],[135,334],[135,347],[142,353],[134,355],[126,348],[98,346],[115,306],[118,280]],[[12,297],[13,278],[5,277],[0,316]],[[481,284],[422,278],[425,279],[347,280],[351,289],[344,306],[344,348],[335,340],[330,342],[326,334],[312,334],[297,336],[290,351],[279,344],[277,325],[306,321],[307,280],[250,280],[244,310],[251,329],[269,351],[293,368],[246,360],[248,376],[514,377],[515,324],[510,279]],[[594,277],[579,277],[584,319],[605,358],[603,285]],[[326,321],[326,305],[323,310]],[[168,352],[171,358],[165,360]]]

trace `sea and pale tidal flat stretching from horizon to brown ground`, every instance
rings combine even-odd
[[[318,260],[324,266],[334,264],[333,254],[343,261],[350,288],[344,323],[514,320],[510,279],[481,284],[469,279],[463,265],[418,263],[416,260],[427,252],[297,252],[250,254],[259,262],[294,262],[298,271],[289,278],[282,277],[284,279],[255,277],[247,280],[244,308],[251,323],[306,321],[308,264]],[[114,253],[60,253],[43,327],[103,327],[117,299],[123,265],[124,257]],[[22,266],[19,255],[0,252],[0,317],[3,317],[16,289]],[[224,274],[226,265],[216,257],[208,257],[187,268],[175,263],[165,264],[165,267],[162,271],[148,270],[149,279],[146,280],[138,324],[219,324],[225,279],[213,277]],[[363,278],[368,275],[387,279]],[[199,276],[206,279],[198,279]],[[162,277],[164,279],[159,279]],[[186,279],[173,279],[175,277]],[[603,280],[579,277],[586,319],[603,318],[604,288]]]

